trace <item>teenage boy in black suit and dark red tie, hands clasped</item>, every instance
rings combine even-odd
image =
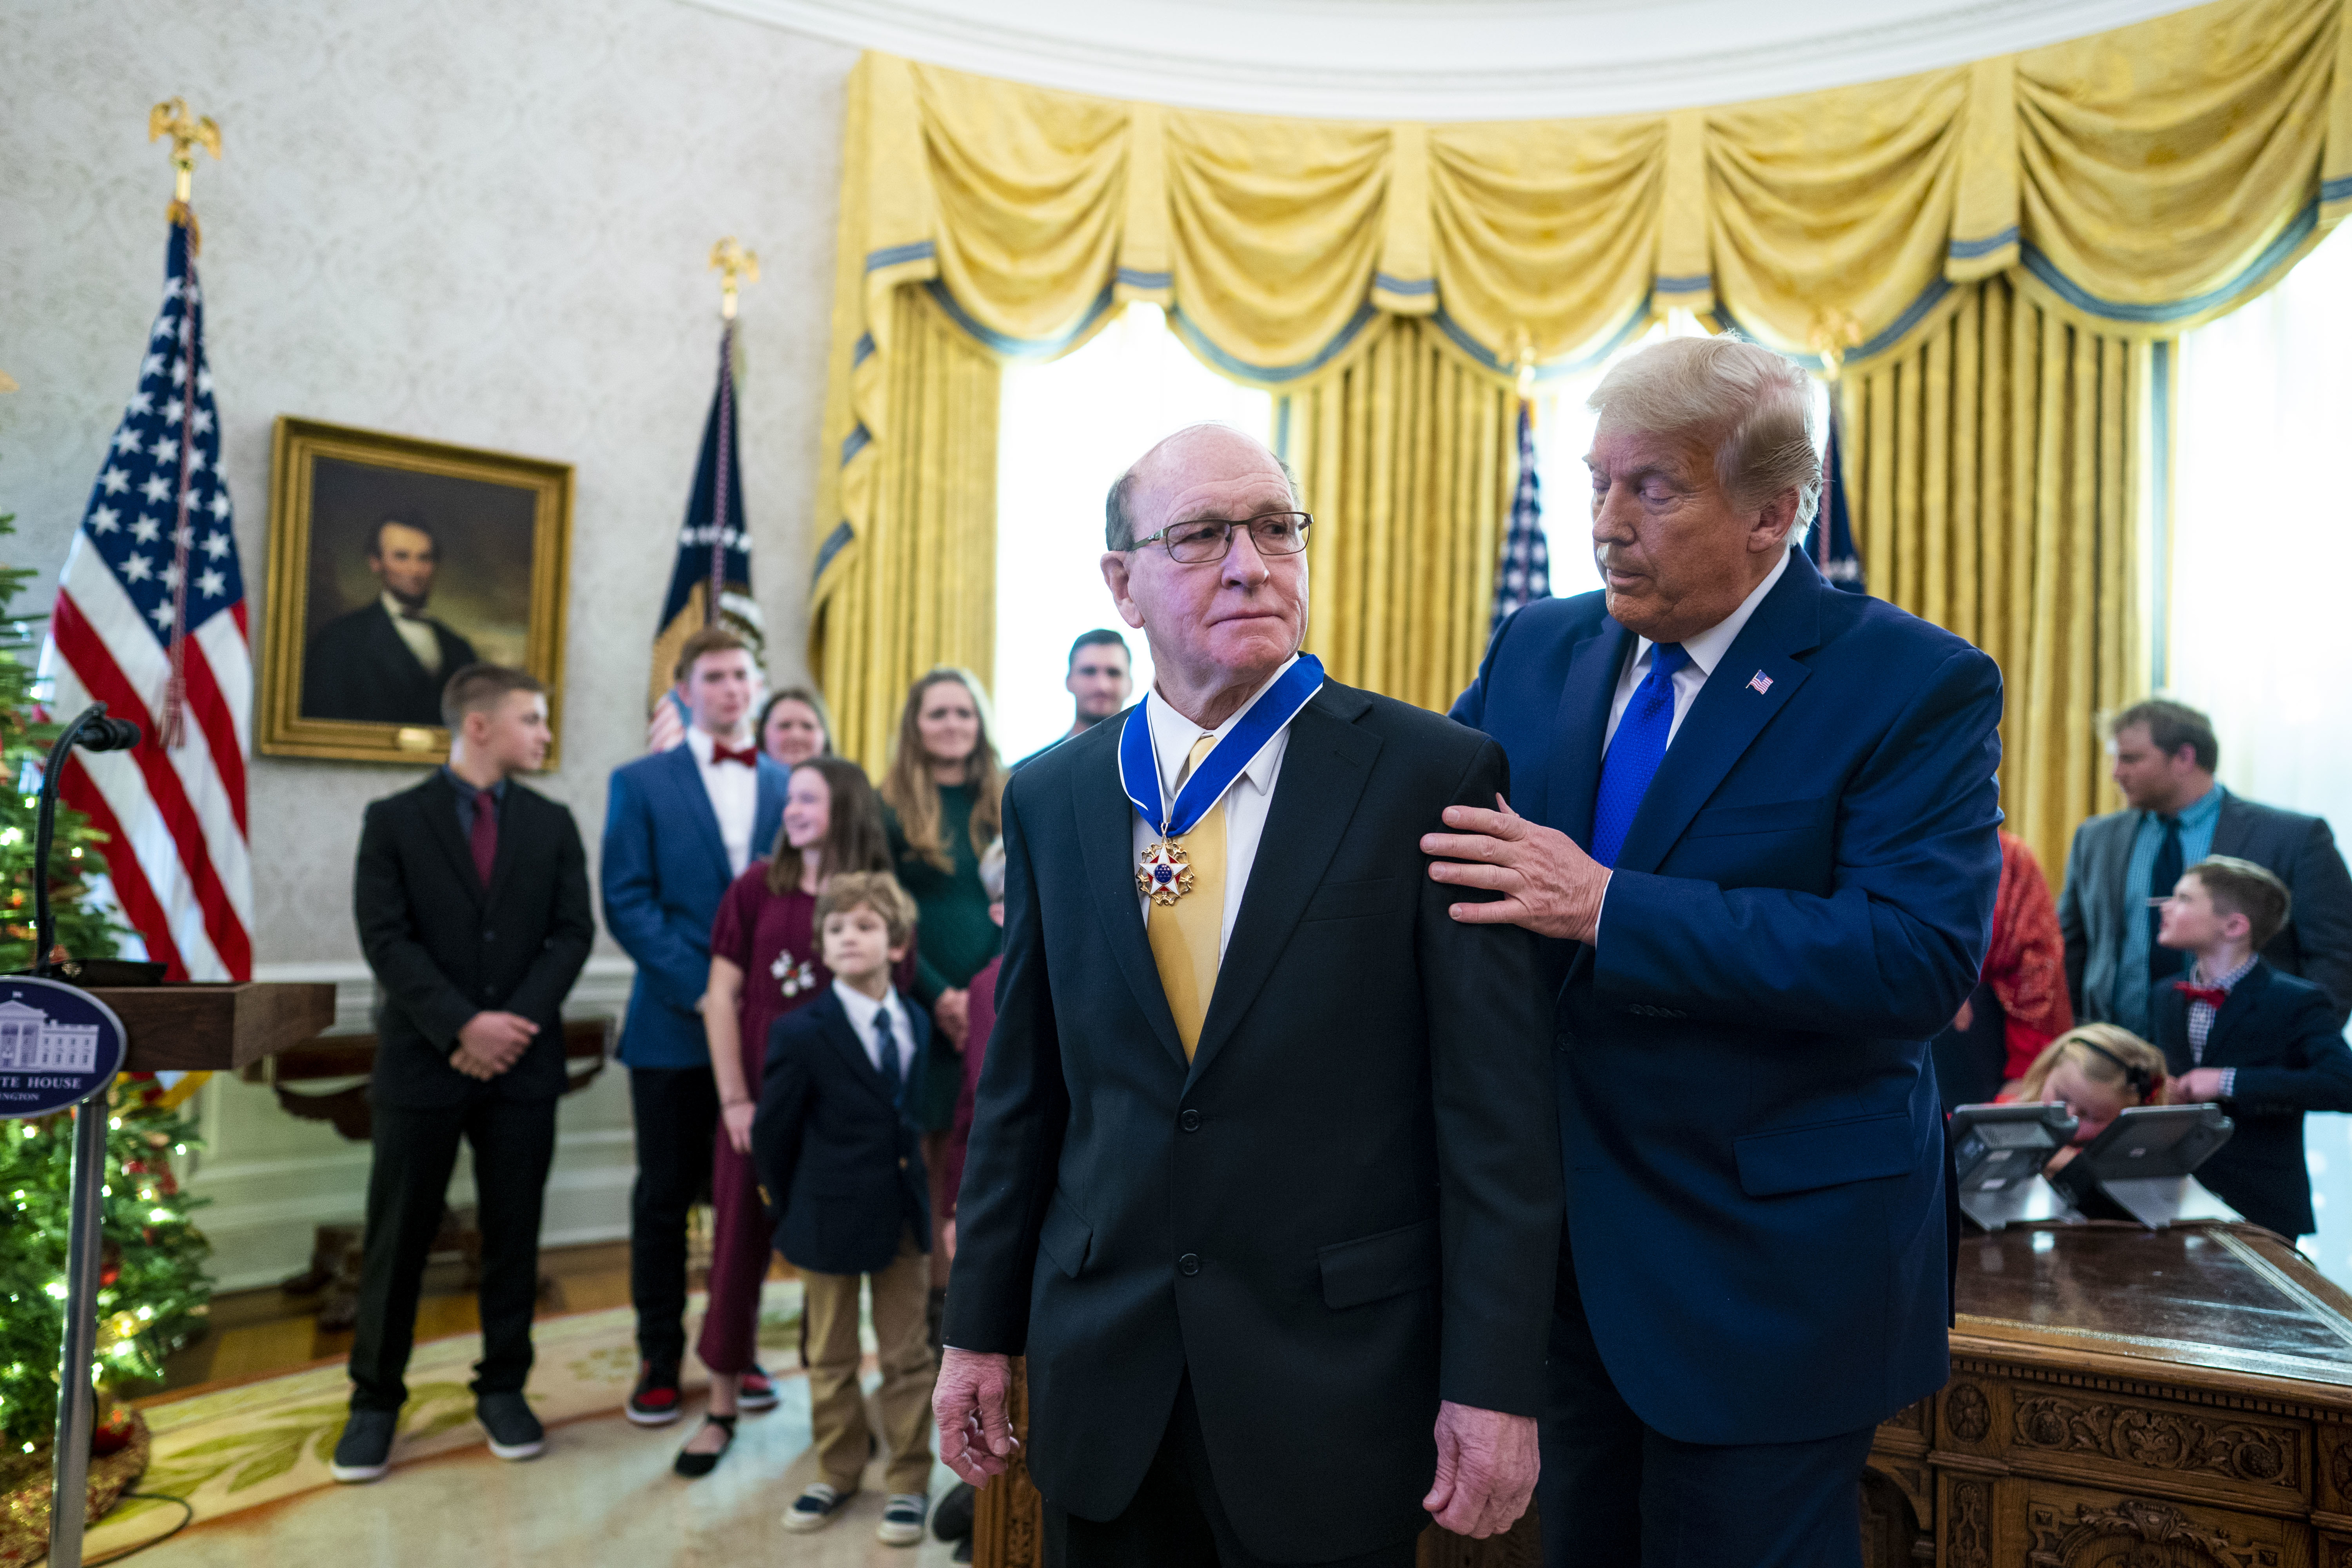
[[[442,693],[449,764],[379,799],[360,830],[353,910],[383,990],[376,1018],[367,1262],[336,1481],[383,1474],[407,1387],[416,1293],[456,1145],[473,1145],[482,1222],[475,1415],[501,1460],[539,1453],[522,1399],[539,1298],[539,1204],[564,1091],[562,1001],[588,961],[588,856],[572,811],[515,783],[546,762],[546,689],[468,665]]]

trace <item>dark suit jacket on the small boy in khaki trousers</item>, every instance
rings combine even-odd
[[[903,1084],[922,1084],[931,1020],[910,1001],[906,1016],[915,1063]],[[776,1251],[793,1267],[877,1274],[898,1258],[908,1229],[931,1251],[922,1131],[906,1107],[908,1091],[891,1100],[830,985],[769,1025],[750,1152],[776,1218]]]

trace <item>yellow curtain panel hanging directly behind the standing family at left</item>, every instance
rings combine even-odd
[[[809,625],[833,743],[873,773],[915,677],[964,665],[985,684],[997,644],[997,364],[920,289],[891,296],[891,336],[884,407],[898,440],[875,465],[866,531],[826,564]]]

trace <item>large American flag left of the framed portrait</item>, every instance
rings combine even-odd
[[[141,729],[129,752],[68,757],[59,792],[111,837],[146,954],[172,980],[249,980],[254,661],[188,221],[174,209],[162,310],[66,550],[40,670],[54,717],[101,701]]]

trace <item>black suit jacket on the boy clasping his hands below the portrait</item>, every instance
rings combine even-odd
[[[350,903],[383,987],[369,1091],[379,1105],[463,1103],[480,1084],[452,1067],[449,1053],[482,1011],[539,1025],[489,1091],[508,1100],[564,1091],[564,992],[595,940],[588,856],[567,806],[508,780],[485,889],[456,827],[456,790],[435,769],[414,790],[367,806]]]

